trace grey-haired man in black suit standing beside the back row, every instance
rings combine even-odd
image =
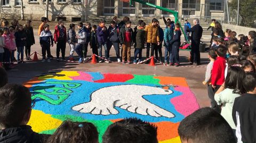
[[[200,65],[200,52],[199,45],[200,39],[202,38],[203,28],[199,25],[199,19],[194,19],[194,27],[187,29],[187,32],[192,32],[191,34],[191,58],[190,64]]]

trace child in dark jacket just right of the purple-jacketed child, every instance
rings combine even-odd
[[[110,22],[110,26],[108,28],[108,39],[109,39],[109,44],[108,44],[108,53],[110,51],[110,48],[112,45],[114,45],[115,51],[116,51],[116,58],[117,62],[121,62],[120,60],[120,49],[119,49],[119,29],[116,26],[115,21]]]

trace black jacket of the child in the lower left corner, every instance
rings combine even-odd
[[[29,125],[0,131],[0,143],[41,143],[46,142],[49,137],[48,134],[34,132]]]

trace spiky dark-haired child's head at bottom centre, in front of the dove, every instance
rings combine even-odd
[[[140,119],[124,119],[111,124],[102,137],[102,143],[156,143],[157,127]]]

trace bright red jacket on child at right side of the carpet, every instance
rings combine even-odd
[[[225,68],[226,68],[226,58],[217,57],[217,60],[213,63],[212,68],[212,85],[221,86],[225,82]]]

